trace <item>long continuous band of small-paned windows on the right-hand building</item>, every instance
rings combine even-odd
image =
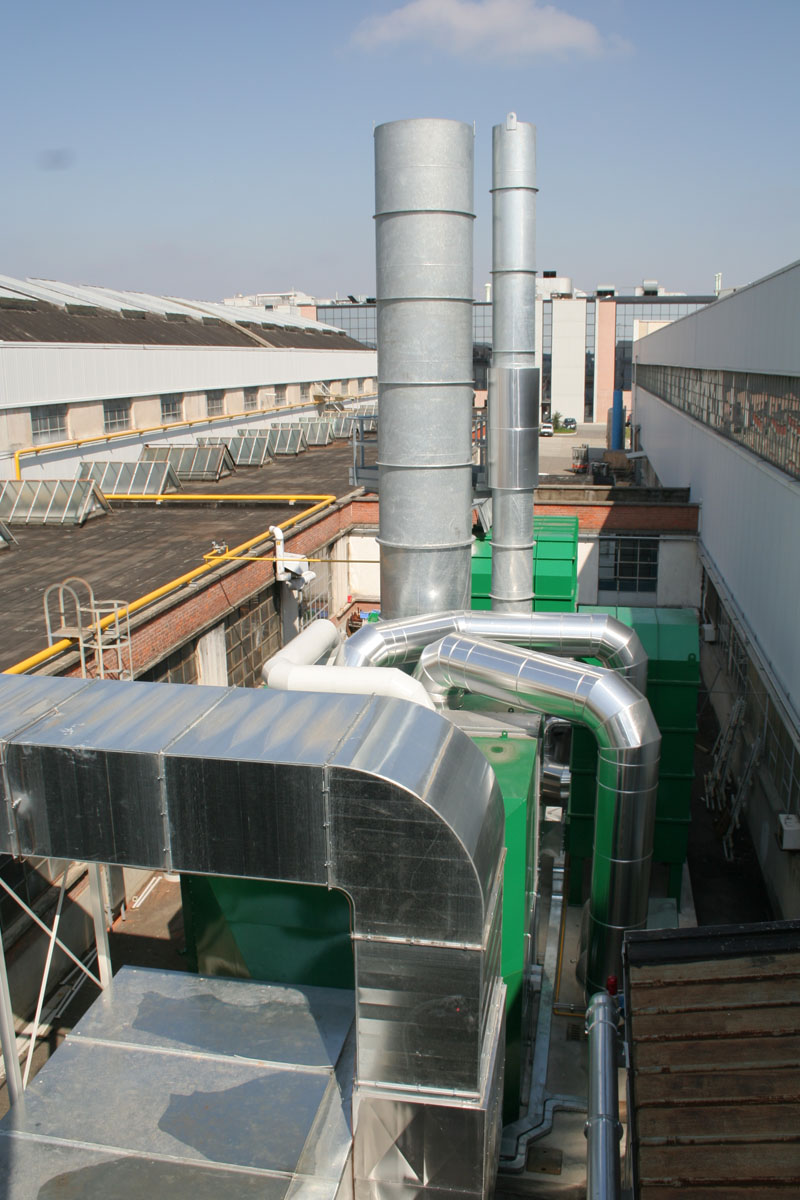
[[[638,364],[636,383],[800,479],[800,378]]]

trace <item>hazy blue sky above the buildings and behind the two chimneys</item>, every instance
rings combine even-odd
[[[800,0],[26,0],[4,17],[0,274],[199,299],[374,293],[373,126],[537,126],[537,263],[578,287],[800,257]]]

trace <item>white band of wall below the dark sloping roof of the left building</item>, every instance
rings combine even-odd
[[[0,346],[0,408],[374,376],[375,350]]]

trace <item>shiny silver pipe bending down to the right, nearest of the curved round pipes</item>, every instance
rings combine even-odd
[[[620,976],[622,936],[648,918],[661,733],[627,679],[602,667],[447,635],[415,674],[435,694],[453,689],[565,716],[597,739],[597,803],[589,901],[587,989]]]

